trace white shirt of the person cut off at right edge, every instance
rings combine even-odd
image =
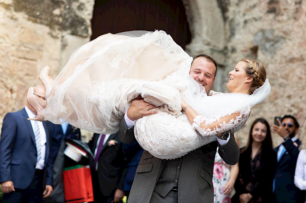
[[[300,151],[295,168],[294,184],[300,190],[306,190],[306,149]]]

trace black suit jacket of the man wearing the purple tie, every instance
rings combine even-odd
[[[99,181],[100,191],[104,196],[113,196],[117,188],[122,189],[120,180],[124,180],[122,175],[126,162],[118,134],[118,132],[111,134],[104,144],[98,159],[98,171],[95,170],[94,160],[92,158],[90,160],[93,182],[95,182],[95,179]],[[95,153],[98,138],[99,134],[95,133],[88,143],[93,154]],[[117,143],[109,145],[108,142],[110,140],[114,140]]]

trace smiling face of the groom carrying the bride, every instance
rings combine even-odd
[[[189,74],[205,87],[205,91],[208,94],[215,81],[215,71],[216,67],[213,62],[204,57],[199,57],[192,62]]]

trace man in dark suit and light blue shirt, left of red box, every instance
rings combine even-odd
[[[64,150],[65,138],[81,140],[81,132],[69,123],[65,122],[60,125],[54,125],[56,134],[51,140],[51,158],[53,163],[53,192],[48,198],[44,198],[44,202],[65,203],[64,185],[63,185],[63,169],[64,169]]]

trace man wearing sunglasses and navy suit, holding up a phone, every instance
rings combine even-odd
[[[295,137],[299,129],[297,119],[291,115],[285,115],[273,125],[273,132],[281,136],[284,141],[274,148],[277,152],[277,166],[273,181],[274,203],[276,202],[304,202],[301,200],[301,192],[294,185],[294,172],[299,154],[300,140]]]

